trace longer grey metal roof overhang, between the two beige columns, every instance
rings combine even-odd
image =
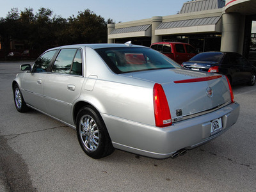
[[[221,33],[220,20],[221,16],[163,22],[157,27],[155,35]]]

